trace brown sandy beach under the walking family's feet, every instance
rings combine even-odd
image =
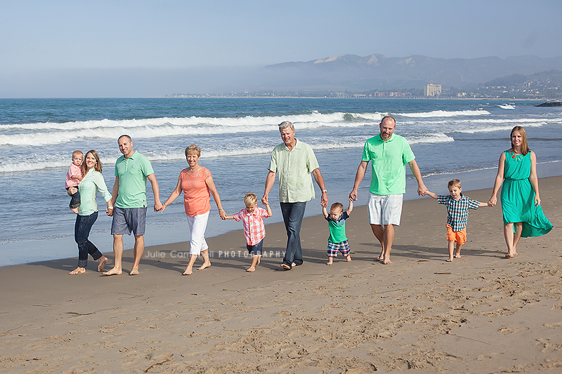
[[[305,262],[289,272],[282,223],[266,226],[254,273],[242,230],[209,238],[212,266],[192,276],[181,276],[188,243],[146,248],[139,276],[101,276],[91,259],[67,275],[76,258],[1,267],[0,371],[560,373],[561,183],[540,179],[554,229],[522,239],[509,260],[498,205],[471,211],[462,258],[445,262],[447,213],[426,198],[405,202],[392,265],[375,261],[359,206],[346,223],[353,261],[332,266],[314,216],[301,230]]]

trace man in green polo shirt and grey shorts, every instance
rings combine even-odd
[[[129,275],[138,274],[138,264],[145,251],[145,221],[146,221],[146,180],[150,180],[154,193],[154,211],[162,209],[158,181],[150,165],[150,161],[142,154],[133,150],[133,142],[129,135],[121,135],[117,140],[119,151],[123,156],[115,163],[115,184],[113,185],[113,211],[107,215],[113,216],[111,234],[113,235],[113,253],[115,266],[105,275],[118,275],[122,272],[121,259],[123,255],[123,234],[135,236],[133,268]]]

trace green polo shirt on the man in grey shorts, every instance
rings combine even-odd
[[[119,177],[119,193],[115,206],[119,208],[143,208],[146,203],[146,179],[154,174],[150,161],[138,152],[129,159],[119,157],[115,163],[115,176]]]

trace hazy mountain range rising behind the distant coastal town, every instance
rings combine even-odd
[[[441,84],[471,88],[511,74],[534,74],[562,70],[562,55],[538,58],[532,55],[509,58],[405,58],[374,54],[365,57],[342,55],[307,62],[285,62],[261,69],[264,86],[272,88],[356,90],[423,88]]]

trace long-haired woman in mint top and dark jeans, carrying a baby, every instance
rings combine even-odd
[[[96,204],[96,194],[101,192],[103,199],[107,203],[109,212],[111,206],[111,194],[107,191],[107,186],[101,175],[101,161],[98,152],[91,150],[84,155],[84,162],[81,165],[82,180],[78,185],[80,191],[80,206],[74,225],[74,240],[78,244],[78,267],[68,274],[82,274],[86,272],[88,265],[88,255],[94,260],[98,260],[98,272],[101,272],[107,262],[107,258],[98,251],[98,248],[88,240],[90,230],[98,219],[98,205]],[[74,187],[68,189],[68,194],[76,192]]]

